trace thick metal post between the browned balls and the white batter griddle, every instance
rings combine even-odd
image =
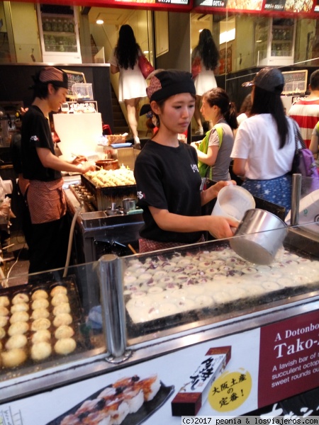
[[[121,259],[115,254],[101,256],[99,271],[103,329],[108,349],[106,361],[121,363],[130,357],[130,351],[126,351]]]

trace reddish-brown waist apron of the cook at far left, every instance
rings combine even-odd
[[[59,220],[67,212],[63,179],[30,180],[27,200],[33,225]]]

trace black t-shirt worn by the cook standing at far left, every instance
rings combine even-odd
[[[61,179],[60,171],[45,168],[38,157],[37,147],[55,154],[50,124],[38,106],[30,106],[23,116],[21,129],[21,159],[23,177],[29,180],[54,181]]]

